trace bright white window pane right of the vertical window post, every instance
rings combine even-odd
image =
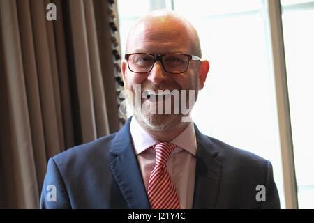
[[[281,4],[299,208],[314,208],[314,1]]]

